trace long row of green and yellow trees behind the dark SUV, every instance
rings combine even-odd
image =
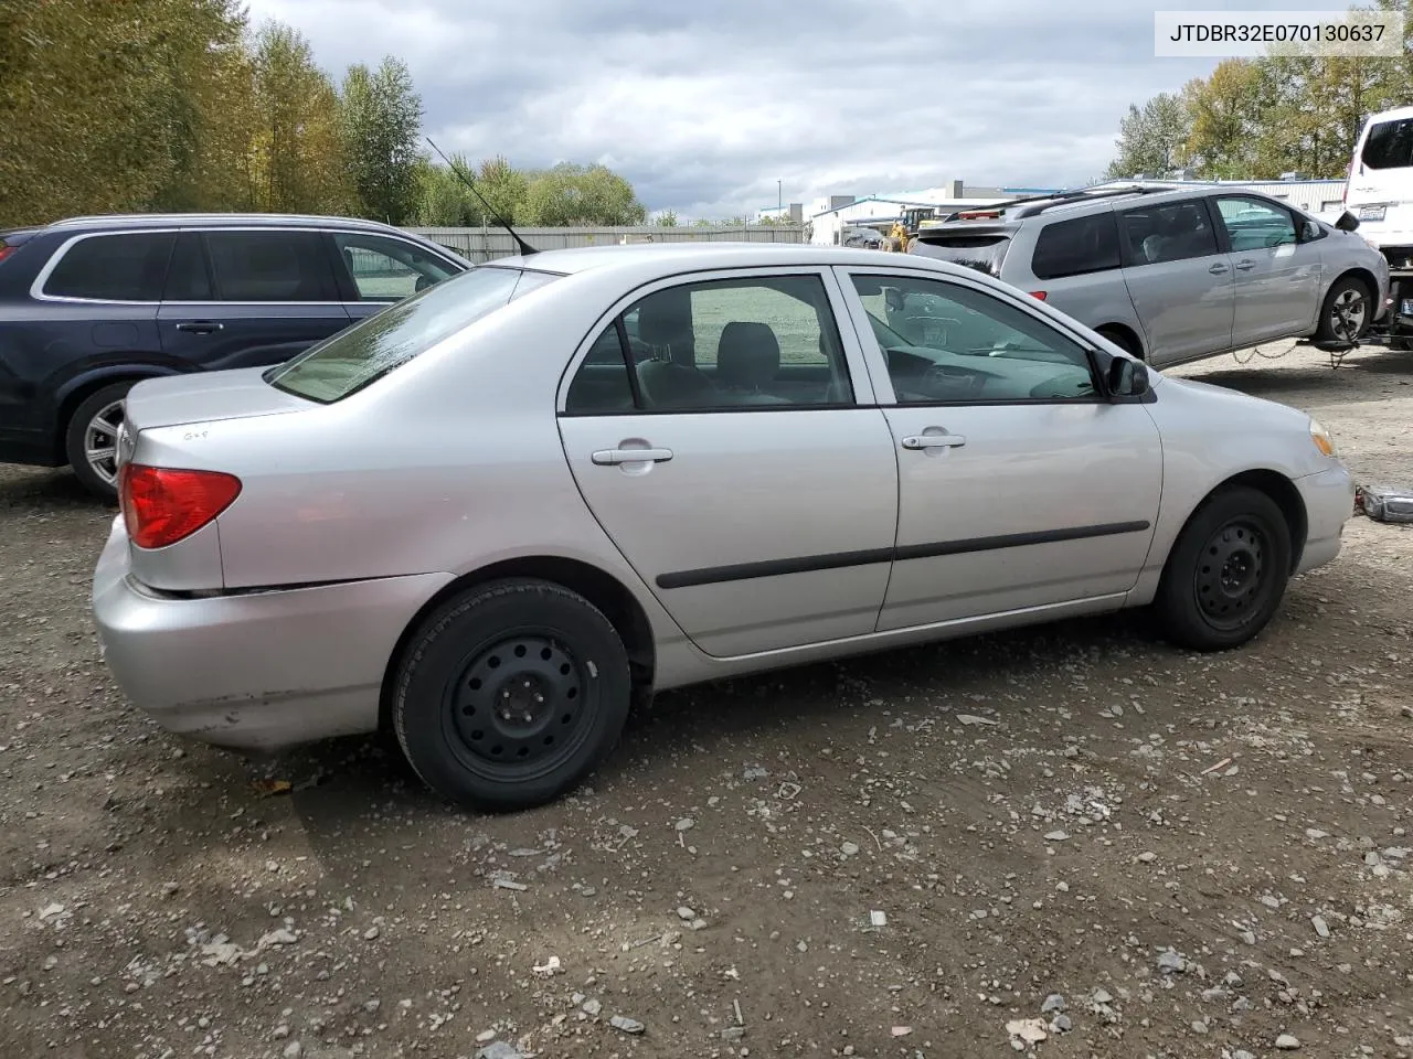
[[[0,0],[0,227],[188,210],[493,223],[422,150],[422,116],[401,59],[336,80],[240,0]],[[646,217],[603,165],[458,161],[513,223]]]

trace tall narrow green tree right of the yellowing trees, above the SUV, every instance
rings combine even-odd
[[[407,64],[349,66],[341,99],[343,155],[365,216],[403,225],[417,209],[422,102]]]

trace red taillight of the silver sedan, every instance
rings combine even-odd
[[[208,525],[240,496],[240,479],[219,470],[177,470],[124,463],[119,505],[138,548],[165,548]]]

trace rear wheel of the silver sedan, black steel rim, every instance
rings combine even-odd
[[[468,809],[528,809],[584,779],[627,720],[633,681],[612,623],[544,580],[476,586],[413,635],[393,730],[413,770]]]

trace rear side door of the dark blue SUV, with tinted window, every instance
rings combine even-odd
[[[222,370],[277,364],[349,326],[312,229],[185,230],[158,313],[162,350]]]

